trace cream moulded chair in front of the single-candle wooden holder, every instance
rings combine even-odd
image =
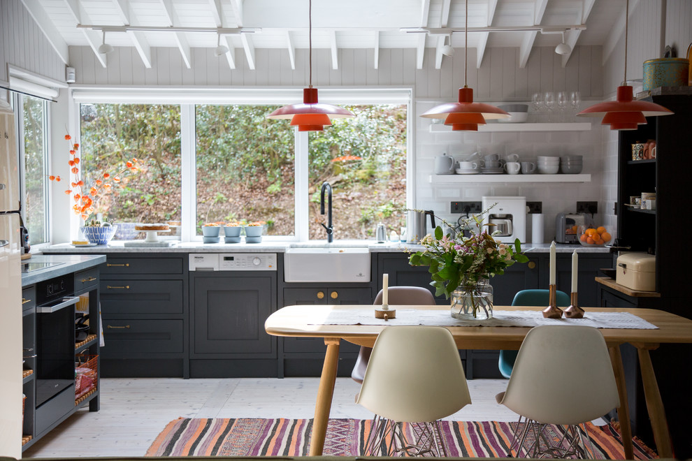
[[[446,456],[438,420],[471,403],[452,333],[435,326],[382,330],[356,403],[375,414],[365,455]],[[406,437],[401,423],[412,423],[415,437]]]

